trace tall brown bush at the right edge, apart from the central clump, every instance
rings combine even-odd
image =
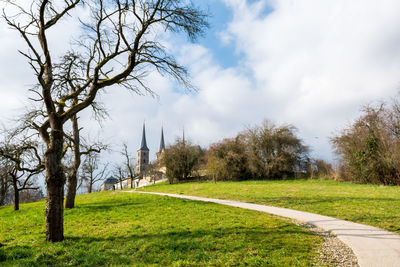
[[[362,116],[332,138],[341,157],[340,178],[361,183],[400,184],[400,108],[367,106]]]

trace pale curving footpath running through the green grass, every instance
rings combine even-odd
[[[400,267],[400,235],[372,226],[339,220],[309,212],[232,200],[154,192],[129,192],[213,202],[295,219],[334,233],[340,240],[342,240],[353,250],[358,259],[358,264],[360,267]]]

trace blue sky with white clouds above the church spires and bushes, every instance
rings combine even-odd
[[[194,1],[199,2],[199,1]],[[158,98],[122,88],[102,96],[110,118],[100,129],[82,114],[86,134],[101,136],[118,150],[122,141],[156,152],[160,128],[172,143],[185,134],[207,147],[269,119],[295,125],[312,155],[333,160],[329,137],[360,115],[362,105],[394,97],[400,85],[398,0],[202,0],[210,29],[197,43],[169,36],[178,61],[199,91],[185,92],[152,74]],[[70,24],[55,40],[73,34]],[[54,49],[65,42],[53,41]],[[32,71],[17,52],[17,33],[0,23],[0,122],[22,112]],[[90,133],[88,133],[90,132]],[[117,153],[109,156],[119,159]]]

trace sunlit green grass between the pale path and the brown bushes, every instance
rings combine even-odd
[[[400,187],[396,186],[288,180],[161,184],[144,190],[292,208],[400,233]]]

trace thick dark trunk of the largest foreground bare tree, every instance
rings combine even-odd
[[[51,131],[51,141],[45,153],[47,203],[46,203],[46,241],[64,240],[64,182],[61,166],[63,151],[63,129]]]

